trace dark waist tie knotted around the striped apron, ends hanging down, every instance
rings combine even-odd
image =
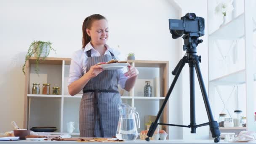
[[[83,90],[83,93],[91,93],[91,92],[94,92],[94,96],[93,96],[94,128],[96,126],[96,115],[99,112],[101,135],[102,135],[102,137],[104,137],[104,131],[103,131],[103,128],[102,128],[101,114],[100,114],[99,106],[98,106],[98,93],[99,92],[102,92],[102,93],[119,93],[119,91],[115,91],[115,90]],[[94,132],[94,137],[96,137],[95,132]]]

